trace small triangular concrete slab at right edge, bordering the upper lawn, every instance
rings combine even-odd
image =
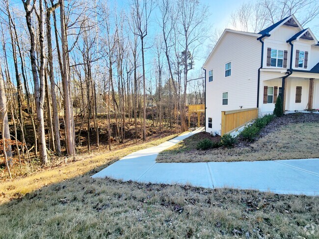
[[[319,176],[319,159],[275,160],[275,162],[314,173]]]

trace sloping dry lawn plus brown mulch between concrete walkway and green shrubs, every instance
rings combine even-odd
[[[219,141],[201,132],[175,146],[160,152],[157,162],[232,162],[276,159],[319,158],[319,114],[288,114],[273,119],[261,130],[255,142],[238,139],[233,148],[197,150],[197,143],[208,138]]]

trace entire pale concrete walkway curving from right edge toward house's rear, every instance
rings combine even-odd
[[[156,163],[160,151],[203,130],[198,128],[158,146],[136,151],[92,177],[110,177],[144,183],[190,184],[205,188],[230,187],[285,194],[319,195],[319,159]]]

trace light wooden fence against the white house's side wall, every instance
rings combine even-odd
[[[221,135],[231,133],[256,118],[258,108],[222,111]]]

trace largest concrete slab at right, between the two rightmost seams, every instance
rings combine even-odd
[[[256,189],[287,194],[319,195],[317,175],[274,161],[208,163],[215,188]]]

